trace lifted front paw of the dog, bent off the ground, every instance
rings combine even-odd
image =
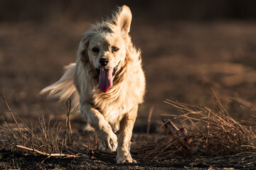
[[[115,152],[117,150],[117,135],[114,132],[110,134],[103,135],[105,137],[100,137],[99,149],[102,151]]]

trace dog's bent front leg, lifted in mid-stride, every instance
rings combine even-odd
[[[104,116],[92,108],[89,103],[81,105],[81,113],[87,117],[87,123],[95,129],[97,138],[100,140],[101,150],[110,150],[114,152],[117,150],[117,135],[114,134],[109,123],[105,120]]]

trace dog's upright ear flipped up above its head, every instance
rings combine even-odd
[[[132,12],[128,6],[122,6],[117,12],[116,18],[114,18],[114,23],[117,24],[125,33],[129,33],[130,26],[132,23]]]

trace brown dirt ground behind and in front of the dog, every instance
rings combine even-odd
[[[99,18],[96,18],[99,19]],[[52,18],[35,23],[0,23],[0,91],[12,111],[26,122],[44,115],[64,122],[65,103],[46,100],[38,94],[63,74],[63,66],[75,61],[82,33],[94,23]],[[145,102],[139,108],[134,135],[146,132],[149,110],[154,106],[151,134],[164,134],[159,127],[161,114],[176,110],[163,103],[164,98],[214,108],[213,87],[229,113],[242,122],[249,111],[229,98],[256,108],[256,23],[255,21],[188,22],[151,20],[134,16],[131,33],[134,45],[142,49],[146,74]],[[0,113],[11,123],[6,106]],[[64,113],[64,114],[63,114]],[[84,124],[79,113],[71,115],[73,131]],[[0,120],[2,124],[3,121]],[[78,141],[82,141],[82,135]],[[115,165],[90,159],[46,159],[2,149],[1,169],[189,169],[191,164],[155,162]],[[198,169],[210,165],[199,165]]]

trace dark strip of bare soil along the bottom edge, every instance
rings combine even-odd
[[[156,162],[148,164],[111,164],[87,158],[50,158],[26,155],[1,150],[1,169],[191,169],[193,165],[182,162]],[[44,161],[44,162],[43,162]],[[41,163],[43,162],[43,163]],[[209,166],[199,165],[195,169]]]

